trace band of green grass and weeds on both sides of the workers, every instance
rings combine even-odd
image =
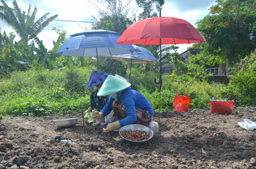
[[[26,72],[12,72],[9,82],[0,83],[0,115],[47,115],[52,113],[77,112],[88,109],[90,93],[96,87],[86,89],[91,74],[89,68],[71,68],[62,71],[47,71],[34,67]],[[128,76],[128,74],[127,74]],[[127,77],[126,76],[126,77]],[[132,69],[131,83],[148,99],[155,111],[159,110],[159,85],[154,83],[152,72],[140,74]],[[189,92],[190,109],[207,109],[209,99],[225,99],[222,91],[226,86],[197,82],[190,77],[163,75],[161,111],[174,110],[177,91],[183,96]]]

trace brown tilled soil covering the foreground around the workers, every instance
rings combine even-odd
[[[79,118],[78,124],[58,128],[53,123],[64,118]],[[255,122],[256,107],[234,108],[232,115],[203,109],[161,112],[160,132],[137,145],[118,132],[102,133],[102,126],[95,127],[93,136],[80,113],[2,119],[0,169],[254,169],[256,131],[240,128],[237,122],[244,119]],[[55,136],[77,144],[46,141]]]

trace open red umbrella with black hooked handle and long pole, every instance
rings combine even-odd
[[[148,18],[137,21],[129,26],[117,40],[117,44],[137,44],[137,45],[160,45],[160,102],[162,88],[162,65],[161,65],[161,45],[192,44],[206,42],[204,37],[189,22],[174,18],[160,17]]]

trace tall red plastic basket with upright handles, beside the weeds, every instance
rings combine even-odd
[[[177,97],[177,93],[179,93],[179,97]],[[185,97],[185,93],[187,97]],[[179,112],[189,112],[189,102],[190,97],[188,92],[184,92],[183,97],[180,97],[180,92],[176,92],[176,97],[174,97],[174,110]]]

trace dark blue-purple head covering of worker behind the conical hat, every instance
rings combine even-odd
[[[99,72],[99,71],[92,71],[86,88],[88,89],[98,84],[101,84],[107,79],[108,75],[111,75],[111,74]]]

